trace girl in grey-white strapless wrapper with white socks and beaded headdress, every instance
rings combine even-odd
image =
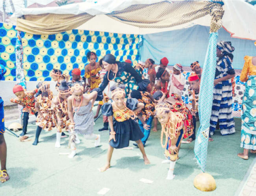
[[[95,140],[95,147],[100,145],[100,135],[93,133],[93,104],[97,98],[96,91],[90,94],[83,94],[83,86],[74,84],[71,88],[72,95],[68,98],[68,113],[70,117],[70,147],[72,152],[69,158],[76,155],[75,144],[79,144],[78,133],[82,134],[85,139]],[[73,135],[73,136],[72,136]]]

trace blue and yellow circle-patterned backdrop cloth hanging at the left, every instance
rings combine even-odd
[[[5,80],[15,79],[15,26],[0,24],[0,64],[7,69]],[[93,51],[98,60],[105,54],[113,54],[118,61],[139,59],[139,37],[99,31],[70,30],[56,35],[32,35],[21,33],[23,68],[26,81],[49,81],[50,71],[60,69],[70,74],[73,68],[84,67],[89,62],[86,54]],[[129,43],[130,41],[130,43]]]

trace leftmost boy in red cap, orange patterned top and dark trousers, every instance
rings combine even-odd
[[[23,113],[23,127],[22,133],[20,136],[23,136],[27,132],[28,126],[28,116],[29,114],[37,116],[37,111],[35,109],[35,98],[34,95],[37,93],[37,89],[34,91],[26,91],[21,85],[15,85],[13,87],[13,93],[17,96],[17,98],[11,98],[11,102],[15,104],[19,104],[23,106],[22,113]]]

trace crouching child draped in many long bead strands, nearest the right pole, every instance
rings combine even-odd
[[[166,179],[173,179],[174,166],[178,159],[181,141],[193,133],[191,113],[187,107],[178,102],[174,96],[156,105],[156,117],[161,123],[161,146],[165,148],[167,160],[162,163],[170,163]],[[163,133],[165,133],[165,144],[163,144]]]

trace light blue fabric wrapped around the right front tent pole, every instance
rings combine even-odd
[[[200,82],[200,93],[198,100],[198,114],[200,127],[195,140],[195,158],[202,172],[206,168],[208,137],[210,128],[211,107],[213,100],[213,82],[216,68],[216,46],[218,33],[210,33],[209,44],[204,60],[203,72]]]

